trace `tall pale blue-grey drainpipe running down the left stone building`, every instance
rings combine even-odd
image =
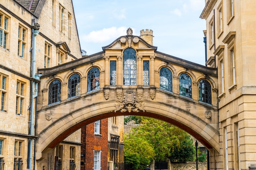
[[[35,20],[32,20],[32,28],[31,28],[31,63],[30,63],[30,112],[29,112],[29,144],[28,144],[28,157],[27,157],[27,169],[32,168],[32,147],[33,147],[33,123],[34,123],[34,98],[37,96],[37,85],[35,83],[35,65],[36,65],[36,36],[39,34],[39,24],[35,24]],[[36,76],[39,79],[38,76]],[[35,145],[36,143],[34,143]]]

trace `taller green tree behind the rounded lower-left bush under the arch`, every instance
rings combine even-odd
[[[141,117],[141,125],[132,129],[132,133],[128,135],[125,141],[128,138],[133,139],[133,137],[140,138],[150,144],[155,153],[152,159],[155,159],[155,161],[165,161],[172,157],[175,157],[176,160],[193,159],[193,147],[192,150],[190,150],[191,147],[188,147],[191,144],[190,135],[167,122]],[[138,140],[130,143],[130,145],[132,144],[134,145],[132,148],[135,149]],[[188,151],[186,151],[187,148],[189,148]],[[126,152],[126,150],[124,151]],[[179,151],[180,153],[178,153]],[[175,153],[178,153],[179,156],[175,156]]]

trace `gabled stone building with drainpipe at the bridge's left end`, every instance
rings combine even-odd
[[[2,0],[0,56],[0,169],[79,167],[80,130],[44,155],[48,162],[38,165],[34,159],[37,69],[82,57],[72,1]]]

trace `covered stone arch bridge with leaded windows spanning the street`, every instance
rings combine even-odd
[[[102,52],[38,73],[37,160],[82,126],[120,115],[164,120],[212,159],[219,153],[217,70],[158,52],[129,29]]]

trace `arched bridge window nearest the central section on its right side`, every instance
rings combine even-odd
[[[160,69],[160,78],[159,78],[160,88],[173,91],[173,74],[168,68]]]

